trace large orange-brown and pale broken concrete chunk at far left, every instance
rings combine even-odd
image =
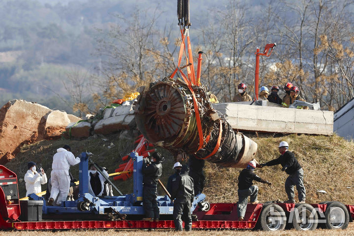
[[[60,137],[75,120],[79,118],[37,103],[9,101],[0,109],[0,164],[14,158],[25,144]]]

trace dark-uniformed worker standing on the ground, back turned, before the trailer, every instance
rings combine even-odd
[[[171,199],[175,199],[173,217],[177,231],[182,231],[182,219],[184,230],[192,230],[191,207],[194,201],[194,184],[193,179],[188,176],[188,171],[187,165],[182,166],[180,176],[172,183]]]

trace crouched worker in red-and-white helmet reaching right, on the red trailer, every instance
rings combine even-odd
[[[247,208],[248,196],[250,196],[251,204],[259,203],[259,201],[257,200],[258,186],[253,185],[253,180],[271,185],[270,182],[257,176],[254,173],[255,169],[256,169],[256,162],[250,161],[248,162],[247,167],[243,169],[238,176],[237,215],[239,221],[242,221],[244,219],[244,215],[246,213],[246,208]]]

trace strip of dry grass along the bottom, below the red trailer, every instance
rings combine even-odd
[[[173,230],[156,230],[147,232],[144,230],[71,230],[71,231],[0,231],[1,236],[77,236],[77,235],[104,235],[104,236],[353,236],[353,223],[347,230],[315,230],[299,232],[286,230],[278,232],[263,232],[251,230],[193,230],[192,232],[175,232]]]

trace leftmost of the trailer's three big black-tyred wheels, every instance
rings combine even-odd
[[[276,204],[264,206],[259,220],[264,231],[284,230],[286,225],[285,212]]]

